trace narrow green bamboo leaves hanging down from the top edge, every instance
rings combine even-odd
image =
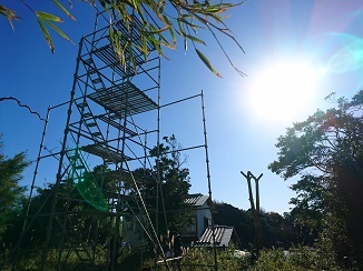
[[[20,2],[24,4],[37,18],[39,27],[52,52],[55,51],[55,46],[49,33],[50,29],[56,31],[66,40],[70,41],[68,36],[59,28],[59,23],[62,22],[62,19],[59,16],[33,10],[24,0],[20,0]],[[69,17],[71,20],[76,20],[70,11],[61,3],[62,1],[52,0],[52,2],[59,9],[59,11]],[[230,66],[241,76],[244,76],[244,73],[233,64],[218,38],[218,34],[230,38],[232,41],[243,51],[243,48],[224,22],[226,16],[222,14],[228,11],[230,8],[243,4],[244,2],[226,3],[217,1],[216,3],[212,3],[208,0],[200,2],[176,0],[98,0],[97,3],[95,0],[86,0],[86,2],[90,3],[94,8],[101,8],[110,18],[121,20],[127,29],[131,28],[134,23],[134,16],[136,16],[141,22],[141,28],[137,30],[140,38],[140,44],[138,46],[126,41],[121,32],[109,28],[110,43],[112,44],[115,53],[119,57],[122,64],[125,64],[125,52],[131,52],[131,60],[134,59],[131,50],[133,47],[138,47],[138,49],[143,51],[145,59],[147,59],[149,53],[147,43],[151,43],[160,56],[166,57],[163,47],[175,49],[177,47],[176,37],[180,37],[183,39],[184,49],[187,50],[188,42],[192,42],[200,60],[212,72],[220,77],[208,59],[196,47],[196,44],[206,44],[203,39],[198,38],[198,32],[208,31],[220,47],[222,52],[225,54]],[[71,7],[71,1],[69,1],[69,3]],[[14,10],[11,10],[3,4],[0,4],[0,14],[9,20],[12,28],[12,21],[20,19]]]

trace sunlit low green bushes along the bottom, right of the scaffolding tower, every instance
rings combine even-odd
[[[218,270],[249,270],[249,271],[305,271],[305,270],[342,270],[328,252],[312,247],[296,247],[291,250],[263,249],[256,262],[251,264],[251,254],[236,257],[234,248],[225,251],[217,250]],[[170,270],[178,270],[178,264],[168,262]],[[193,248],[179,261],[182,270],[214,270],[214,253],[209,249]],[[145,265],[153,267],[151,260]],[[158,270],[167,270],[159,263]],[[344,269],[346,270],[346,269]]]

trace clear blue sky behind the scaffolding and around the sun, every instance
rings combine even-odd
[[[61,28],[75,44],[52,34],[56,53],[51,54],[36,19],[20,1],[6,0],[22,18],[14,22],[0,19],[0,97],[16,97],[46,116],[49,106],[69,99],[76,67],[78,41],[94,27],[92,9],[75,2],[77,22],[65,18]],[[35,9],[51,10],[51,3]],[[249,208],[246,180],[241,171],[264,173],[261,204],[266,211],[283,213],[294,193],[293,181],[284,181],[267,170],[277,158],[274,147],[278,136],[294,121],[304,120],[331,92],[352,97],[362,89],[363,2],[361,0],[251,0],[228,12],[226,23],[243,46],[242,53],[232,41],[222,38],[232,60],[248,77],[235,72],[210,37],[199,47],[222,73],[208,71],[193,48],[167,50],[161,63],[161,102],[194,96],[204,90],[209,147],[213,198],[244,210]],[[182,43],[180,43],[182,44]],[[308,82],[308,83],[307,83]],[[282,89],[288,92],[279,93]],[[266,91],[266,92],[264,92]],[[62,138],[63,112],[50,118],[51,145]],[[175,133],[183,147],[198,143],[202,131],[199,102],[161,114],[161,133]],[[14,101],[0,102],[0,132],[4,152],[11,157],[27,150],[36,160],[42,121]],[[192,192],[207,193],[203,151],[188,153]],[[24,172],[24,183],[32,178],[33,165]],[[46,171],[46,168],[43,169]],[[39,183],[49,175],[39,170]],[[53,173],[56,174],[56,172]]]

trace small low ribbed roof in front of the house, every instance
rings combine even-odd
[[[215,242],[216,247],[228,247],[232,234],[234,232],[233,227],[228,225],[215,225],[214,227],[215,232]],[[213,231],[212,227],[208,227],[205,232],[202,234],[199,240],[196,242],[196,245],[212,245],[213,244]]]

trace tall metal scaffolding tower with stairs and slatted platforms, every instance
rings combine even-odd
[[[109,28],[121,32],[133,44],[140,42],[137,30],[141,24],[136,17],[133,17],[131,27],[126,28],[117,18],[109,20],[105,13],[98,13],[95,31],[82,37],[79,43],[70,100],[48,109],[29,204],[36,193],[40,161],[57,158],[58,172],[50,185],[49,199],[39,211],[29,213],[28,208],[18,243],[21,247],[21,239],[29,234],[28,230],[37,219],[41,218],[48,224],[41,270],[47,270],[50,258],[52,262],[57,259],[56,270],[67,270],[75,257],[87,270],[90,267],[97,270],[99,258],[105,254],[109,269],[116,270],[116,240],[130,219],[136,219],[145,239],[155,243],[155,251],[159,251],[156,257],[163,253],[157,248],[160,247],[158,215],[165,211],[158,210],[159,200],[163,200],[157,169],[160,153],[154,158],[149,154],[160,143],[163,108],[202,98],[204,143],[185,150],[205,148],[212,199],[203,92],[161,106],[157,50],[148,44],[149,53],[145,60],[140,47],[134,46],[134,60],[130,61],[129,52],[125,51],[126,61],[120,64],[110,44]],[[43,154],[49,113],[59,107],[68,107],[61,150]],[[149,170],[155,168],[156,173]],[[154,189],[145,194],[144,185]],[[108,232],[100,232],[105,229]],[[108,243],[107,248],[105,243]]]

